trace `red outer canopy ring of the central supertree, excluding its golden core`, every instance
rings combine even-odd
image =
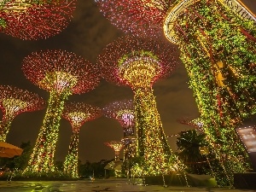
[[[127,36],[108,44],[102,50],[102,54],[98,57],[98,65],[102,68],[102,77],[113,84],[131,85],[131,82],[124,79],[121,70],[124,66],[129,65],[129,62],[133,61],[134,58],[143,58],[143,61],[154,60],[154,64],[157,63],[157,73],[155,76],[151,75],[150,85],[158,79],[169,76],[178,63],[177,49],[172,44],[154,39]],[[148,62],[148,65],[150,64],[151,62]],[[129,71],[131,71],[131,68]],[[139,70],[137,71],[139,73]]]

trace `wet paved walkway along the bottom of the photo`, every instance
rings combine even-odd
[[[205,189],[195,187],[162,187],[127,184],[124,179],[102,179],[95,181],[0,181],[0,192],[255,192],[256,190],[239,189]]]

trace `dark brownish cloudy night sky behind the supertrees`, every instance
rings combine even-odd
[[[256,0],[243,0],[256,13]],[[0,84],[14,85],[20,89],[38,93],[48,100],[49,93],[40,90],[27,80],[21,71],[21,61],[26,55],[41,49],[66,49],[85,59],[96,63],[101,50],[115,38],[124,36],[115,26],[106,20],[94,3],[94,0],[78,0],[77,9],[67,29],[53,38],[39,41],[23,41],[0,34]],[[181,64],[168,79],[154,84],[157,108],[160,113],[166,135],[190,129],[189,126],[177,123],[182,117],[196,118],[199,113],[192,90],[189,90],[188,75]],[[104,107],[109,102],[132,98],[129,87],[119,87],[102,80],[101,84],[88,93],[73,95],[69,102],[86,102],[97,107]],[[38,131],[43,123],[45,109],[32,113],[21,113],[15,117],[7,137],[7,142],[20,146],[21,142],[36,142]],[[56,160],[64,160],[71,137],[71,125],[61,119],[60,134],[56,148]],[[103,143],[120,140],[123,131],[114,119],[101,117],[86,122],[79,134],[79,159],[99,161],[113,159],[111,148]],[[176,150],[176,137],[169,137],[172,150]]]

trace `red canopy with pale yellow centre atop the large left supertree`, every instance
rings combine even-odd
[[[22,70],[33,84],[49,91],[68,89],[79,94],[93,90],[100,82],[95,65],[65,50],[33,52],[23,60]]]

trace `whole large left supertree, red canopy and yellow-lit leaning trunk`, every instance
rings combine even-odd
[[[65,50],[45,50],[26,56],[22,70],[26,78],[49,91],[43,126],[26,170],[54,172],[55,143],[64,102],[72,94],[92,90],[99,83],[95,66]]]

